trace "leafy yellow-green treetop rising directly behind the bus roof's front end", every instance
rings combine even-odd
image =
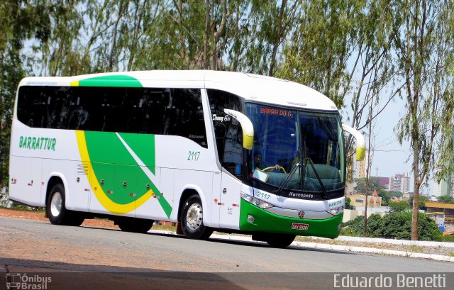
[[[304,1],[276,75],[306,84],[341,108],[350,91],[347,64],[358,40],[355,19],[364,1]]]

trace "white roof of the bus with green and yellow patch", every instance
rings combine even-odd
[[[294,108],[337,111],[333,101],[319,91],[296,82],[243,72],[211,70],[113,72],[75,77],[27,77],[19,85],[221,89],[250,101]]]

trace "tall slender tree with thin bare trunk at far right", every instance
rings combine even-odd
[[[434,167],[437,136],[453,113],[450,60],[453,59],[453,7],[450,1],[394,3],[399,33],[394,42],[404,82],[406,112],[396,128],[399,142],[412,149],[414,206],[411,239],[418,240],[419,190]]]

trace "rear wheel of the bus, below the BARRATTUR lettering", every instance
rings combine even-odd
[[[52,225],[79,226],[84,222],[81,214],[65,208],[65,186],[63,184],[55,184],[50,189],[45,212]]]

